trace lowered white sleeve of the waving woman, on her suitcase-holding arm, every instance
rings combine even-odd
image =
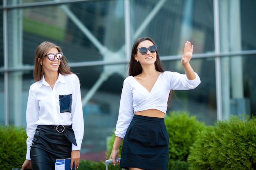
[[[130,125],[130,122],[132,121],[132,117],[133,117],[132,90],[128,80],[129,79],[124,80],[121,99],[120,99],[117,126],[115,130],[115,135],[121,138],[124,138],[126,134],[126,130]]]

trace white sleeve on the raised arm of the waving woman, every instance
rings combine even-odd
[[[195,76],[195,79],[190,80],[185,74],[168,71],[168,76],[166,78],[168,79],[168,82],[170,82],[169,88],[171,90],[190,90],[196,88],[201,83],[197,73],[195,73]]]

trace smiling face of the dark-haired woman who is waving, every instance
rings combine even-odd
[[[139,49],[140,47],[150,47],[154,45],[153,42],[149,41],[149,40],[145,40],[142,41],[141,43],[139,43],[139,45],[137,46],[137,49]],[[135,54],[134,59],[136,61],[138,61],[141,65],[145,65],[145,64],[154,64],[156,59],[157,59],[157,53],[151,53],[149,50],[147,50],[147,53],[145,55],[142,55],[139,50],[137,50],[137,54]]]

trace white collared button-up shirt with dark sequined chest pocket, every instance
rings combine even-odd
[[[59,74],[53,89],[44,76],[32,84],[29,88],[26,119],[26,159],[30,160],[30,146],[38,125],[72,125],[77,144],[72,144],[72,150],[81,150],[84,122],[79,78],[75,74]]]

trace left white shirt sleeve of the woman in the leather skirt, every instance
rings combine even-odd
[[[36,100],[36,95],[29,88],[29,97],[27,100],[27,111],[26,111],[26,121],[27,121],[27,155],[26,159],[30,160],[30,146],[32,145],[32,140],[36,132],[36,121],[38,121],[39,105]]]

